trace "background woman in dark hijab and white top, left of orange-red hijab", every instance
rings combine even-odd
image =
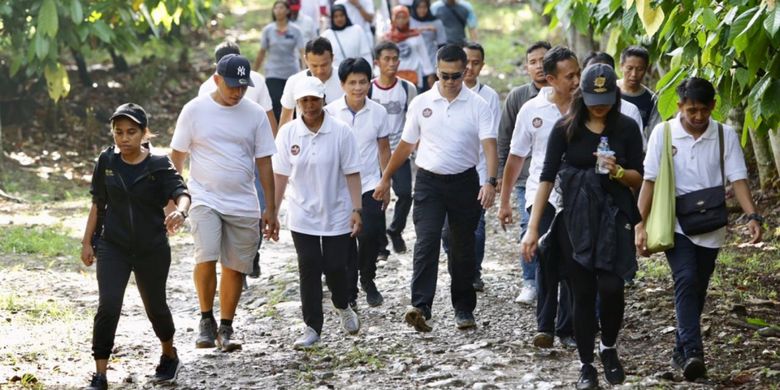
[[[333,6],[330,11],[330,28],[323,31],[321,36],[333,45],[334,68],[338,69],[341,61],[347,58],[363,57],[369,64],[373,63],[371,44],[366,33],[362,27],[352,24],[344,5]]]

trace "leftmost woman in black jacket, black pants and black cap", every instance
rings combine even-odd
[[[141,106],[119,106],[111,116],[116,146],[100,154],[92,176],[92,208],[81,261],[91,266],[97,258],[100,300],[92,334],[96,372],[88,389],[108,387],[108,358],[131,272],[162,344],[153,381],[175,381],[181,366],[173,347],[175,328],[165,296],[171,266],[166,231],[173,233],[184,223],[190,196],[171,160],[150,153],[145,143],[151,136],[147,122]],[[176,211],[166,217],[163,208],[169,199],[176,202]]]

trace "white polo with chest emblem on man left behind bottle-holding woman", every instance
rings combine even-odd
[[[528,168],[528,181],[525,184],[525,207],[531,207],[539,189],[539,177],[542,175],[544,156],[547,154],[547,140],[558,119],[563,114],[555,103],[550,101],[552,87],[539,90],[535,98],[527,101],[520,108],[515,120],[515,130],[509,145],[509,153],[518,157],[531,156],[531,166]],[[550,204],[560,210],[560,197],[557,191],[550,193]]]

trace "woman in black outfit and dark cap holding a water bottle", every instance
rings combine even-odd
[[[599,157],[606,137],[614,155]],[[593,367],[596,332],[596,294],[601,297],[599,356],[611,384],[625,380],[617,354],[623,321],[623,280],[636,270],[633,227],[639,212],[632,190],[642,183],[642,139],[636,122],[620,114],[620,90],[609,65],[594,64],[583,71],[580,90],[569,113],[556,123],[547,143],[536,204],[548,201],[559,180],[563,211],[543,240],[542,256],[560,259],[574,296],[574,335],[582,364],[577,389],[598,388]],[[530,258],[539,241],[542,209],[534,209],[523,238],[523,256]]]

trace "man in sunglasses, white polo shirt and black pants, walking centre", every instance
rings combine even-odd
[[[444,219],[450,222],[451,247],[448,270],[450,293],[459,329],[476,327],[477,296],[472,281],[476,268],[474,230],[483,208],[495,197],[496,130],[484,99],[463,88],[466,53],[457,45],[446,45],[436,54],[439,80],[417,96],[409,106],[401,142],[390,158],[374,199],[382,199],[390,177],[403,165],[419,143],[419,166],[414,192],[414,245],[412,307],[404,320],[418,332],[429,332],[426,322],[436,292],[436,279]],[[476,166],[480,144],[485,151],[488,183],[480,188]]]

